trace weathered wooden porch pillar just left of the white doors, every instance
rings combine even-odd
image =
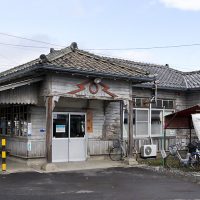
[[[46,98],[46,158],[47,163],[52,162],[52,111],[53,97]]]

